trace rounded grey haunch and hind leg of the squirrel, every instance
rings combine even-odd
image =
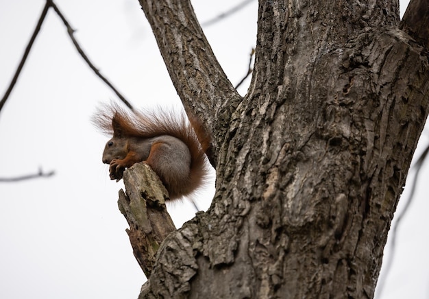
[[[145,163],[160,177],[169,191],[171,200],[189,193],[191,153],[184,143],[171,144],[164,141],[153,143]]]

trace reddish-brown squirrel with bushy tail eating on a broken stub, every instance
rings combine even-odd
[[[177,116],[161,109],[127,113],[111,105],[99,109],[93,123],[102,132],[113,134],[102,159],[110,165],[110,179],[118,182],[127,167],[143,161],[158,175],[170,200],[182,198],[204,184],[208,174],[205,152],[210,140],[201,125],[195,120],[191,125],[183,113]]]

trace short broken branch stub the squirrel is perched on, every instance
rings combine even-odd
[[[160,244],[176,229],[165,206],[169,195],[158,176],[144,163],[127,169],[123,182],[126,193],[119,191],[119,210],[130,225],[127,234],[134,256],[149,278]]]

